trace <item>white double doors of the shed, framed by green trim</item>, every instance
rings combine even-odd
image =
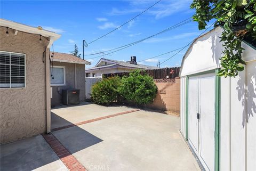
[[[190,77],[188,85],[189,144],[205,170],[214,170],[215,74]]]

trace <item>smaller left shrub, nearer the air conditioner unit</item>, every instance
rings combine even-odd
[[[119,77],[103,78],[92,86],[92,100],[97,104],[111,104],[119,99],[117,88],[121,83]]]

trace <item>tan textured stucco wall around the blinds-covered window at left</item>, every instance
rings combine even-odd
[[[26,54],[26,87],[0,88],[1,143],[46,132],[46,88],[43,52],[48,41],[13,30],[0,30],[0,50]],[[48,51],[48,50],[47,50]],[[46,51],[46,55],[48,55]]]

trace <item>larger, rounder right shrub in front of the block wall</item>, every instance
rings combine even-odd
[[[157,93],[157,86],[152,77],[140,70],[130,72],[129,76],[124,76],[118,88],[124,100],[130,104],[149,104],[153,103]]]

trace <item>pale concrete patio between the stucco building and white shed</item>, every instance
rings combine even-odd
[[[176,116],[136,111],[125,106],[83,103],[52,109],[52,131],[52,135],[87,170],[200,170],[179,133],[179,117]],[[29,139],[17,141],[15,145],[19,146],[22,141]],[[44,143],[51,149],[46,141]],[[19,152],[14,146],[13,143],[1,146],[1,170],[7,168],[8,160],[13,160],[14,154]],[[2,148],[8,150],[3,152]],[[57,152],[59,160],[53,154],[41,153],[54,159],[36,166],[54,165],[59,170],[67,169],[67,157],[61,158]],[[33,162],[35,154],[29,155]],[[36,167],[27,170],[31,169]]]

